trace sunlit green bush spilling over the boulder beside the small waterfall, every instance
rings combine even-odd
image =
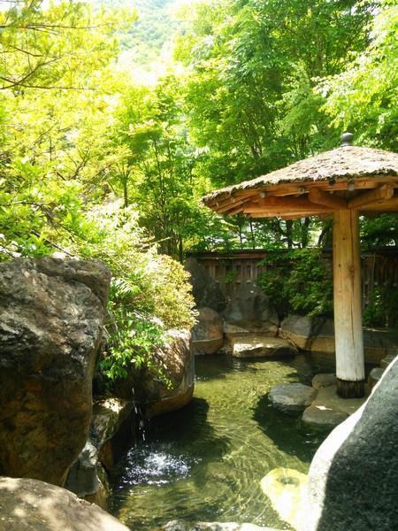
[[[167,385],[152,353],[165,344],[170,329],[194,324],[188,273],[180,263],[157,253],[137,226],[133,207],[109,204],[90,212],[90,218],[100,220],[97,237],[80,248],[80,254],[101,259],[113,275],[109,339],[100,368],[115,380],[125,377],[129,366],[147,366]]]

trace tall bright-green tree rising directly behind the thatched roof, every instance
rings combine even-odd
[[[208,148],[203,172],[213,186],[338,145],[341,132],[329,124],[325,100],[314,87],[363,50],[371,7],[355,1],[214,0],[188,12],[190,26],[177,58],[188,65],[188,124],[195,142]],[[255,240],[272,227],[279,240],[294,246],[290,233],[305,228],[298,225],[256,222]],[[299,245],[306,244],[302,236]]]

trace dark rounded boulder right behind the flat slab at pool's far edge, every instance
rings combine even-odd
[[[227,325],[259,335],[277,335],[278,313],[262,289],[246,282],[236,289],[223,317]]]

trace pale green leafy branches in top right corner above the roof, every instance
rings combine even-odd
[[[347,70],[319,87],[337,127],[356,132],[358,142],[398,150],[398,6],[381,0],[371,23],[371,42]]]

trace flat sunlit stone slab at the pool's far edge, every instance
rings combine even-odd
[[[292,357],[297,354],[297,350],[290,342],[280,337],[245,335],[233,338],[232,354],[235,358]]]

